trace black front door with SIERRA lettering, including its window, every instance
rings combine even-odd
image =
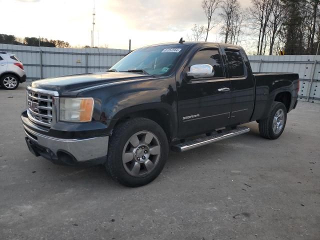
[[[211,65],[214,74],[189,81],[182,80],[177,86],[179,137],[209,132],[229,122],[231,83],[225,77],[219,48],[198,50],[183,71],[189,71],[195,64]]]

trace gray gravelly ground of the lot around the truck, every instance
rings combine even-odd
[[[24,142],[25,86],[0,88],[0,239],[320,239],[320,104],[277,140],[251,131],[170,152],[152,183],[54,165]]]

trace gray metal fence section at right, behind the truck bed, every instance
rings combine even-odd
[[[299,100],[320,102],[320,55],[248,56],[252,71],[299,74]]]

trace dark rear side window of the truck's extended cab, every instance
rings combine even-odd
[[[238,51],[225,51],[231,77],[244,76],[244,63]]]

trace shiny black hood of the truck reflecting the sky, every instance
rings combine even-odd
[[[45,90],[57,91],[61,96],[74,96],[88,87],[99,86],[105,83],[121,82],[125,80],[150,78],[152,75],[143,75],[133,72],[96,72],[45,78],[32,81],[30,86]]]

